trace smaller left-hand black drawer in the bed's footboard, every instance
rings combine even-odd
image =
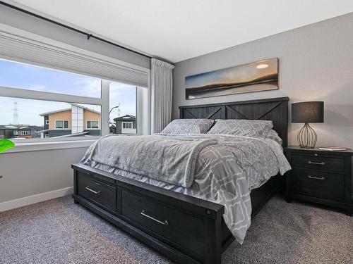
[[[116,187],[93,180],[85,174],[77,174],[77,192],[85,199],[99,203],[109,210],[116,211]]]

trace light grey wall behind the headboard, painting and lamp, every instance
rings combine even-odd
[[[325,101],[325,123],[312,125],[318,132],[318,145],[353,148],[352,29],[353,13],[349,13],[176,63],[173,118],[179,118],[179,106],[203,103],[280,96],[289,96],[290,103]],[[210,39],[210,41],[222,42],[222,39]],[[186,76],[265,58],[279,58],[280,89],[206,99],[185,99]],[[289,144],[297,145],[296,136],[302,125],[290,123],[289,111]]]

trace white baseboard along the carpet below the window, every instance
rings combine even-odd
[[[67,188],[59,189],[55,191],[48,191],[48,192],[44,192],[43,194],[35,194],[32,196],[23,197],[16,200],[4,201],[0,203],[0,212],[4,212],[5,210],[11,210],[22,206],[28,206],[32,203],[40,203],[41,201],[47,201],[50,199],[55,199],[69,194],[73,194],[73,187],[67,187]]]

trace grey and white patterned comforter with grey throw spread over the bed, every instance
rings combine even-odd
[[[155,167],[153,170],[163,170],[165,165],[163,161],[167,162],[170,159],[170,157],[163,155],[168,155],[169,151],[167,149],[170,149],[170,146],[179,148],[179,145],[193,144],[186,149],[189,152],[193,148],[198,149],[194,152],[194,154],[198,153],[195,170],[187,176],[191,180],[191,186],[189,187],[189,184],[186,184],[188,181],[181,180],[182,176],[185,175],[183,173],[175,177],[174,180],[177,179],[177,182],[174,182],[173,180],[166,180],[161,172],[157,173],[157,177],[149,174],[152,171],[149,171],[148,163],[141,166],[136,165],[136,167],[124,164],[124,162],[133,161],[135,158],[141,160],[140,157],[151,156],[147,149],[143,150],[144,147],[141,147],[138,151],[131,151],[131,146],[137,147],[139,145],[138,137],[136,137],[136,140],[133,137],[135,136],[103,137],[96,144],[90,146],[81,163],[140,182],[223,204],[225,206],[225,214],[223,215],[225,223],[239,243],[244,241],[246,230],[251,222],[251,189],[261,187],[270,177],[277,175],[277,172],[283,175],[290,169],[289,163],[282,152],[282,147],[273,139],[226,134],[146,136],[150,137],[150,139],[146,139],[146,142],[155,142],[152,144],[157,144],[158,147],[161,145],[156,142],[167,144],[164,151],[154,157],[156,160],[152,163],[153,166],[149,166]],[[140,139],[142,140],[142,138]],[[103,147],[100,142],[102,143],[104,140],[105,145]],[[126,142],[132,142],[132,145],[128,146]],[[175,145],[169,145],[168,142]],[[178,143],[176,144],[176,142]],[[128,151],[121,148],[127,148]],[[114,149],[121,150],[115,151]],[[195,151],[195,149],[193,150]],[[153,149],[153,151],[158,151],[158,149]],[[182,156],[182,152],[174,152]],[[121,155],[128,155],[129,157],[125,158]],[[191,156],[189,155],[188,158]],[[117,161],[121,158],[126,161]],[[176,175],[173,170],[188,166],[186,164],[189,161],[188,158],[181,158],[179,167],[169,167],[172,170],[172,175]],[[152,162],[152,160],[153,158],[149,159],[149,162]],[[136,168],[139,170],[137,171]]]

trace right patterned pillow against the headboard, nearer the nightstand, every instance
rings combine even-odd
[[[273,122],[268,120],[217,119],[208,134],[236,134],[265,138],[272,127]]]

